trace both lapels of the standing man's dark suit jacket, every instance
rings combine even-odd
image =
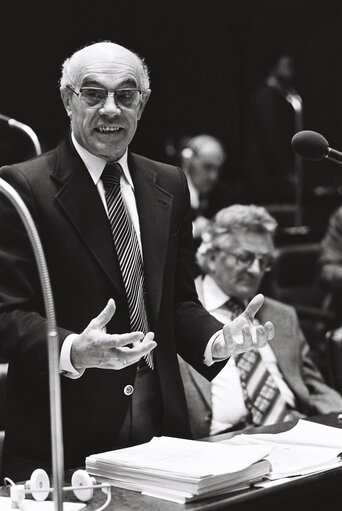
[[[145,159],[130,155],[128,165],[134,183],[140,222],[147,306],[153,324],[156,324],[162,294],[172,195],[156,184],[156,172],[150,168]],[[70,137],[64,139],[58,147],[52,178],[61,185],[56,194],[56,201],[107,277],[125,297],[106,212]]]

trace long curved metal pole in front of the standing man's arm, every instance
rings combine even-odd
[[[59,341],[56,328],[55,309],[48,269],[43,247],[32,216],[16,190],[0,178],[0,192],[14,205],[27,230],[43,291],[47,319],[47,342],[49,355],[50,421],[53,471],[53,498],[56,511],[63,511],[64,450],[62,430],[61,385],[59,376]]]

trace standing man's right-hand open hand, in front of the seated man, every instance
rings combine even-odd
[[[262,294],[256,295],[240,316],[223,327],[223,332],[212,346],[213,358],[225,359],[251,348],[262,348],[274,337],[274,327],[270,321],[265,325],[253,325],[253,319],[262,304]]]

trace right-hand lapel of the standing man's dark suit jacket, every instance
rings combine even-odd
[[[130,155],[128,164],[139,214],[147,308],[155,325],[162,294],[172,195],[157,185],[156,171],[150,168],[145,159]]]

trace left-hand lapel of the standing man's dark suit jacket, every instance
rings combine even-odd
[[[106,212],[89,172],[68,139],[58,147],[52,177],[61,183],[56,201],[107,277],[125,296]]]

